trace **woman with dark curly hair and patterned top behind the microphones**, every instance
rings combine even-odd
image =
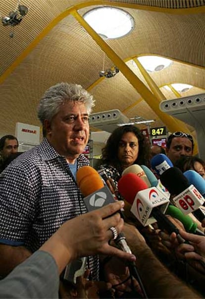
[[[113,180],[117,192],[117,182],[125,168],[133,164],[150,165],[150,145],[136,126],[120,126],[109,136],[101,159],[99,168]]]

